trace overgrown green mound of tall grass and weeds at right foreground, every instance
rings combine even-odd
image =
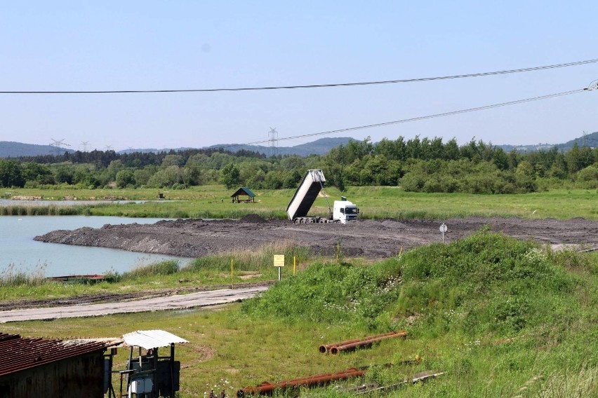
[[[399,383],[405,369],[392,352],[409,351],[405,344],[423,357],[418,369],[447,376],[396,396],[591,396],[598,392],[595,260],[483,228],[372,266],[314,263],[245,301],[241,314],[291,327],[334,325],[343,338],[408,331],[405,343],[385,343],[392,365],[373,366],[366,379]]]

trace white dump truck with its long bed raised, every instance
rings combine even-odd
[[[305,177],[301,180],[299,188],[295,191],[293,199],[286,207],[286,214],[288,219],[295,224],[310,224],[310,223],[341,223],[345,224],[349,220],[356,220],[359,214],[359,208],[354,203],[351,203],[344,196],[341,200],[335,200],[331,210],[328,197],[326,204],[328,204],[328,217],[310,217],[307,212],[310,211],[320,191],[324,189],[324,172],[321,170],[307,170]]]

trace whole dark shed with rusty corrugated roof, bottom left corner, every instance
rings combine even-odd
[[[0,397],[103,397],[105,344],[0,333]]]

